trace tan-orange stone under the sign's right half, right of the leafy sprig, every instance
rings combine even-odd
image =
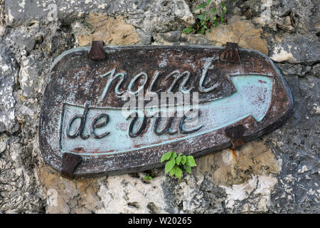
[[[238,150],[226,149],[197,159],[198,172],[211,173],[218,185],[239,185],[252,175],[277,174],[281,162],[260,142],[247,142]]]

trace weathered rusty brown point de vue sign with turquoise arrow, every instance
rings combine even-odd
[[[94,44],[59,56],[43,95],[41,152],[66,177],[159,167],[168,151],[238,147],[277,128],[292,108],[270,58],[235,43]]]

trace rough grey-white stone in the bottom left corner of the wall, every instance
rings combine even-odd
[[[0,135],[0,142],[7,142],[0,155],[0,211],[5,213],[44,212],[41,190],[38,188],[31,159],[31,150],[18,142],[16,137]]]

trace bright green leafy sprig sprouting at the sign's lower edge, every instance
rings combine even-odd
[[[177,155],[176,152],[166,152],[162,155],[160,162],[164,161],[167,161],[164,172],[169,172],[171,177],[176,175],[178,179],[181,179],[183,171],[191,174],[191,167],[197,166],[192,155],[186,156],[182,153]]]

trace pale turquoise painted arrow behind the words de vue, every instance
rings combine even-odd
[[[203,128],[195,133],[187,135],[181,133],[176,133],[175,135],[155,135],[153,130],[149,127],[148,130],[144,131],[142,136],[130,138],[128,129],[132,119],[127,120],[127,116],[122,115],[121,110],[90,108],[87,111],[87,120],[83,135],[90,134],[90,123],[97,115],[101,115],[102,113],[107,113],[107,115],[109,115],[109,122],[104,128],[97,129],[97,134],[100,135],[105,132],[110,132],[110,134],[101,139],[93,137],[85,140],[80,137],[71,139],[65,135],[68,121],[75,114],[81,115],[84,108],[66,104],[61,126],[62,150],[63,152],[73,152],[75,147],[82,147],[83,152],[77,153],[83,155],[97,155],[90,153],[92,151],[101,152],[99,153],[100,155],[127,152],[132,151],[133,149],[138,150],[146,147],[154,147],[156,145],[164,145],[170,142],[177,142],[179,140],[191,139],[198,135],[203,135],[233,124],[250,115],[258,122],[261,121],[265,117],[270,106],[272,97],[272,77],[231,76],[230,80],[233,82],[236,92],[226,98],[199,104],[198,108],[201,110],[201,115],[200,118],[198,118],[198,121],[189,125],[186,124],[183,127],[193,129],[203,125]],[[183,108],[183,106],[176,107],[176,110],[181,108]],[[167,111],[173,112],[174,107],[168,108]],[[137,144],[139,144],[139,147],[135,147]]]

